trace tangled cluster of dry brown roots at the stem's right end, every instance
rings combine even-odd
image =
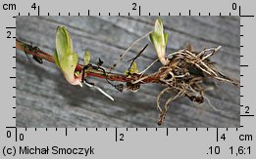
[[[209,60],[220,48],[204,49],[198,53],[194,52],[189,46],[186,49],[170,54],[168,56],[168,63],[160,67],[157,72],[132,81],[132,84],[137,84],[146,78],[154,76],[158,77],[160,83],[167,86],[157,97],[157,108],[160,111],[159,125],[163,124],[170,102],[174,99],[187,97],[193,102],[202,103],[206,89],[203,81],[206,78],[211,77],[219,81],[238,85],[234,80],[219,72],[215,68],[214,63]],[[160,99],[166,93],[175,95],[167,99],[164,105],[161,105]]]

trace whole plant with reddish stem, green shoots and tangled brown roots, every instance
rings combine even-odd
[[[121,60],[124,60],[128,50],[145,37],[150,38],[158,59],[149,64],[145,70],[139,71],[137,69],[135,60],[145,52],[148,46],[148,44],[146,44],[137,56],[128,60],[130,64],[128,65],[128,69],[124,70],[124,74],[113,73],[112,71],[117,64]],[[44,53],[38,47],[33,47],[31,44],[26,44],[20,40],[16,41],[16,47],[24,51],[26,55],[31,55],[32,59],[39,63],[42,63],[43,60],[55,62],[68,83],[81,87],[83,84],[88,87],[93,87],[112,100],[114,99],[111,96],[106,94],[98,86],[95,86],[92,82],[87,81],[86,77],[95,76],[104,78],[108,84],[120,92],[128,90],[135,93],[139,90],[141,85],[147,83],[156,83],[165,86],[165,89],[157,96],[159,125],[163,124],[167,110],[173,100],[186,97],[193,102],[202,103],[205,99],[204,92],[207,89],[207,85],[204,81],[209,78],[238,86],[235,80],[230,79],[218,71],[214,63],[210,60],[210,58],[220,50],[220,46],[196,52],[188,45],[184,49],[169,54],[166,49],[168,34],[165,33],[163,21],[160,19],[155,21],[155,26],[152,31],[149,31],[141,38],[134,41],[134,43],[128,47],[128,50],[126,50],[126,52],[120,56],[120,59],[110,68],[103,67],[103,60],[100,59],[97,63],[91,63],[89,51],[85,51],[83,63],[78,63],[78,55],[73,50],[73,41],[65,26],[57,27],[55,43],[56,49],[54,56]],[[158,60],[162,63],[159,69],[150,74],[146,73]],[[115,83],[113,83],[113,81],[115,81]],[[117,82],[119,83],[116,84]],[[126,86],[124,86],[123,83],[125,83]],[[171,97],[167,99],[164,104],[161,104],[160,100],[164,94],[170,95]]]

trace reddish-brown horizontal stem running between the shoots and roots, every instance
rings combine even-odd
[[[16,49],[21,50],[25,52],[28,55],[32,55],[34,57],[40,58],[42,60],[48,60],[50,62],[55,62],[54,57],[52,55],[49,55],[41,50],[39,50],[37,47],[33,47],[29,44],[26,44],[20,40],[16,40]],[[77,63],[76,71],[80,71],[83,69],[82,64]],[[85,70],[85,76],[94,76],[98,78],[107,78],[111,81],[118,81],[118,82],[131,82],[135,81],[139,78],[142,78],[146,75],[140,75],[140,74],[131,74],[131,75],[125,75],[125,74],[119,74],[119,73],[110,73],[110,72],[104,72],[101,69],[95,69],[93,67],[88,67]],[[149,76],[148,78],[145,78],[140,83],[158,83],[159,77],[158,76]]]

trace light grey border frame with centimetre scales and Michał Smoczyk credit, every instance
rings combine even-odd
[[[249,2],[1,2],[1,156],[50,157],[239,157],[255,158],[253,100],[255,12]],[[88,3],[88,4],[87,4]],[[167,4],[167,5],[165,5]],[[117,7],[118,6],[118,7]],[[170,6],[170,7],[168,7]],[[69,8],[70,7],[70,8]],[[69,8],[69,9],[67,9]],[[18,16],[239,16],[239,128],[17,128],[16,19]]]

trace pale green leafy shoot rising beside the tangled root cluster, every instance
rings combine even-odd
[[[168,34],[164,33],[164,25],[161,19],[156,20],[154,31],[149,34],[149,37],[155,47],[158,59],[166,65],[168,63],[166,59]]]

